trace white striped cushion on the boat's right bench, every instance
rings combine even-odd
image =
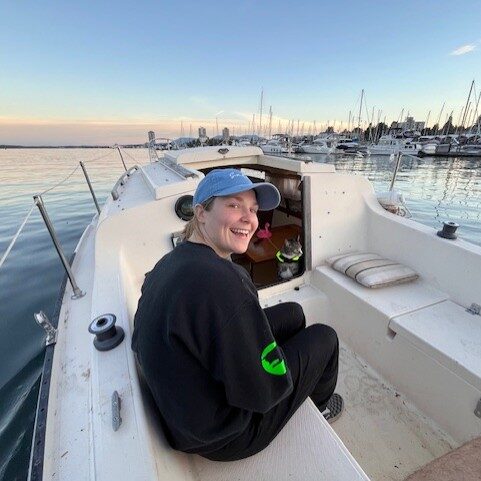
[[[414,281],[410,267],[370,252],[351,252],[326,259],[333,269],[372,289]]]

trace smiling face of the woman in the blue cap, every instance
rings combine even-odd
[[[253,190],[216,197],[210,210],[197,207],[201,232],[221,257],[243,254],[257,230],[257,200]]]

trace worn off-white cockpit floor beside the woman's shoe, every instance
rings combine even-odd
[[[339,361],[345,412],[332,427],[373,481],[404,480],[459,445],[344,345]]]

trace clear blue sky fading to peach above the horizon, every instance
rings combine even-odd
[[[273,130],[346,127],[362,89],[362,122],[456,121],[480,25],[479,0],[0,0],[0,144],[244,133],[261,91]]]

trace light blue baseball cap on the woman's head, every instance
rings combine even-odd
[[[202,204],[211,197],[238,194],[254,190],[259,210],[275,209],[281,201],[281,195],[268,182],[252,182],[239,169],[211,170],[199,183],[194,194],[193,205]]]

